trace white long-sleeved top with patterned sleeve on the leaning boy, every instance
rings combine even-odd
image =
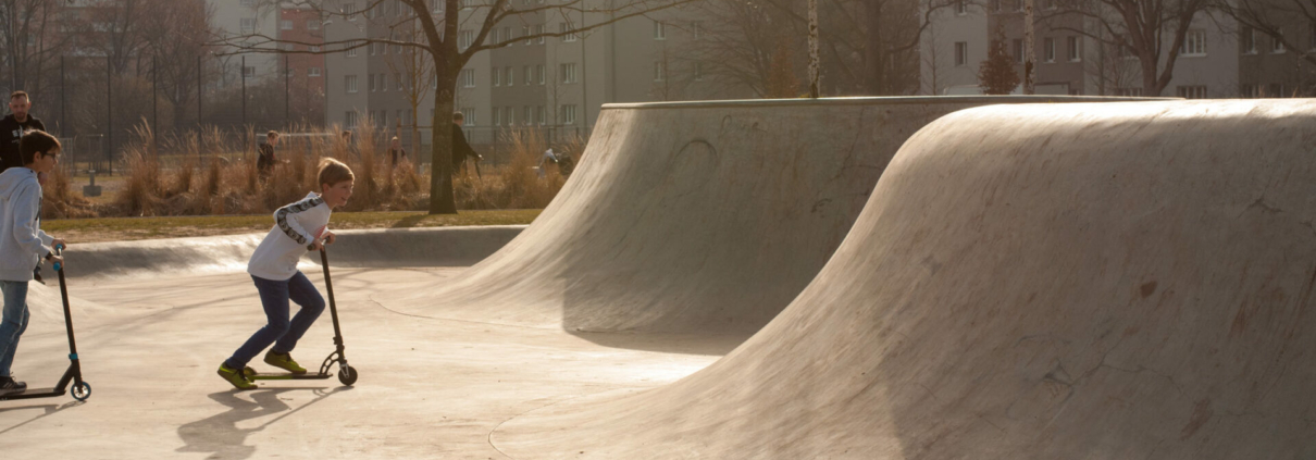
[[[284,281],[297,273],[297,260],[307,246],[329,229],[332,210],[317,193],[274,212],[274,227],[255,247],[247,262],[247,273],[266,280]]]

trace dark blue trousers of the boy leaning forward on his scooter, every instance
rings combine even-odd
[[[224,365],[230,369],[246,367],[255,355],[259,355],[271,343],[274,344],[271,351],[276,354],[292,351],[301,334],[305,334],[307,329],[311,329],[320,313],[325,310],[325,300],[320,297],[320,290],[316,290],[316,285],[311,284],[311,280],[300,271],[284,281],[266,280],[258,276],[253,276],[251,280],[255,281],[255,289],[261,292],[261,305],[265,306],[265,317],[268,323],[255,331],[238,351],[233,352],[233,356],[224,361]],[[291,322],[288,321],[290,300],[301,306],[301,311],[297,311]]]

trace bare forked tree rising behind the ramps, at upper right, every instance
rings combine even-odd
[[[1192,18],[1209,7],[1211,0],[1062,0],[1051,16],[1078,14],[1095,22],[1095,30],[1057,29],[1087,35],[1136,57],[1142,93],[1159,96],[1174,78]]]

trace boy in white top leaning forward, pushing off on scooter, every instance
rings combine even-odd
[[[247,273],[261,292],[267,323],[220,364],[220,377],[233,386],[243,390],[257,388],[242,375],[242,369],[270,344],[274,347],[265,355],[266,364],[292,373],[307,373],[305,368],[292,360],[290,352],[325,310],[325,300],[311,280],[297,271],[297,260],[307,254],[308,246],[321,250],[325,243],[333,244],[329,213],[333,208],[347,204],[353,179],[346,164],[326,158],[320,163],[320,193],[312,192],[301,201],[274,213],[274,227],[247,263]],[[301,306],[292,321],[288,321],[290,300]]]

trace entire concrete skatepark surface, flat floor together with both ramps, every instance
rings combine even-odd
[[[1084,100],[609,105],[528,227],[343,233],[350,388],[215,375],[259,235],[74,242],[92,397],[0,402],[0,452],[1316,459],[1316,103],[982,106]]]

